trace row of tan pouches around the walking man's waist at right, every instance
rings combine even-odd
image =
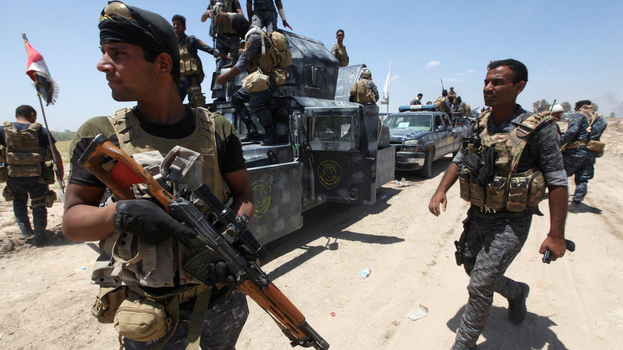
[[[523,212],[536,207],[545,198],[545,177],[538,169],[510,176],[495,176],[487,186],[480,186],[478,174],[463,167],[459,173],[460,196],[481,211]]]

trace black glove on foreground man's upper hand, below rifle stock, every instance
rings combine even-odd
[[[159,243],[173,236],[196,236],[193,230],[177,222],[149,199],[118,201],[115,209],[115,231],[123,229],[143,242]]]

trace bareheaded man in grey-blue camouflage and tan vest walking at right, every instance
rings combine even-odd
[[[453,350],[476,346],[487,325],[494,291],[508,299],[511,322],[525,319],[530,288],[504,273],[526,242],[546,186],[551,223],[540,253],[548,249],[556,260],[566,249],[567,178],[551,113],[533,114],[516,104],[528,81],[528,70],[521,62],[490,62],[487,69],[483,95],[493,111],[472,123],[429,204],[430,212],[439,216],[439,206],[445,210],[447,204],[445,193],[457,179],[461,198],[472,202],[457,242],[457,263],[464,263],[470,282]],[[477,169],[478,158],[487,161],[479,172],[470,170]]]

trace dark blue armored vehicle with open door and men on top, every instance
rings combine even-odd
[[[394,177],[396,148],[389,145],[389,129],[379,120],[378,106],[348,102],[348,89],[365,66],[340,69],[320,41],[280,32],[292,50],[292,64],[285,85],[267,101],[280,142],[242,144],[255,194],[249,228],[262,244],[299,229],[302,213],[322,202],[374,204],[376,190]],[[216,82],[220,73],[212,75],[212,98],[226,101],[207,107],[221,112],[245,135],[246,127],[229,102],[245,73],[223,85]]]

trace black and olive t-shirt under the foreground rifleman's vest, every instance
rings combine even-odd
[[[188,105],[186,106],[186,116],[173,124],[153,123],[141,116],[138,110],[135,109],[134,113],[141,123],[141,128],[145,130],[146,133],[156,137],[181,139],[190,136],[196,128],[194,125],[193,110],[191,110]],[[216,135],[216,154],[219,159],[221,174],[233,173],[234,171],[245,169],[246,165],[244,156],[242,155],[240,138],[235,132],[234,126],[224,116],[216,116],[214,118],[214,133]],[[102,181],[78,163],[78,159],[80,159],[80,156],[82,156],[85,149],[87,149],[88,144],[99,134],[107,136],[115,146],[119,146],[117,134],[110,121],[108,121],[108,116],[97,116],[80,126],[69,148],[69,156],[71,159],[71,168],[69,171],[70,183],[84,186],[105,187]]]

